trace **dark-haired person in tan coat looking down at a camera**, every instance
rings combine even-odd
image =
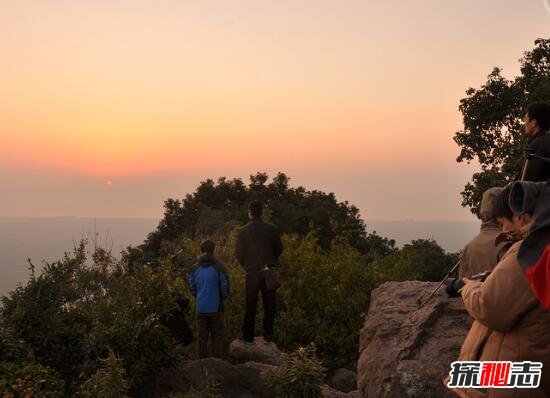
[[[507,186],[494,204],[494,214],[503,231],[519,231],[518,234],[524,239],[529,239],[534,233],[533,225],[541,224],[540,219],[533,224],[533,203],[550,208],[550,200],[546,197],[537,202],[537,190],[532,189],[531,184],[537,183],[516,182]],[[540,191],[540,185],[538,188]],[[547,196],[550,195],[550,185],[545,189]],[[520,205],[517,204],[519,202]],[[540,213],[539,210],[537,212]],[[550,225],[549,212],[542,215],[547,218],[544,222]],[[548,230],[545,233],[541,236],[548,237]],[[460,397],[550,396],[550,311],[533,290],[520,263],[521,250],[525,251],[522,247],[524,239],[510,247],[484,282],[463,279],[464,287],[459,292],[474,322],[458,360],[542,362],[540,385],[536,389],[452,389]],[[536,239],[541,244],[550,244],[546,242],[547,238],[540,240],[537,236]]]

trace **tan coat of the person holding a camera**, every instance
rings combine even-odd
[[[461,361],[537,361],[543,363],[540,387],[454,389],[461,397],[550,397],[550,311],[535,297],[517,262],[515,243],[484,283],[462,290],[464,306],[475,319],[460,350]]]

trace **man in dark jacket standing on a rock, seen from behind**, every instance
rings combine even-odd
[[[277,258],[283,252],[283,245],[279,230],[275,225],[262,221],[262,213],[263,206],[259,201],[250,203],[250,222],[239,230],[235,248],[235,256],[246,271],[243,340],[247,343],[254,342],[259,292],[262,293],[264,307],[264,340],[267,343],[273,341],[276,291],[267,289],[265,269],[276,266]]]

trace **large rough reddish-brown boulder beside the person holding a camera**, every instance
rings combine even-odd
[[[472,323],[445,289],[420,310],[435,282],[387,282],[372,292],[359,339],[363,397],[453,397],[443,386]]]

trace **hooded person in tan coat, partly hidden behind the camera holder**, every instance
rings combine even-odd
[[[502,188],[489,188],[483,192],[479,218],[481,228],[479,233],[464,247],[460,254],[458,267],[459,278],[469,278],[472,275],[491,271],[498,263],[503,244],[495,244],[496,237],[502,231],[499,223],[493,217],[493,203]]]

